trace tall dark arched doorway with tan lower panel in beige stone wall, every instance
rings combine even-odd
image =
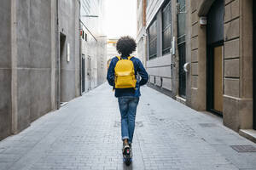
[[[207,14],[207,111],[223,115],[224,0]]]

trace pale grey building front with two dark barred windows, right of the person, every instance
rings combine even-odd
[[[172,40],[175,34],[175,4],[173,1],[143,1],[145,8],[145,38],[146,68],[148,70],[148,85],[161,92],[175,97],[177,77],[175,75],[175,53],[172,50]]]

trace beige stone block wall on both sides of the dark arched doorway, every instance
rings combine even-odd
[[[206,16],[213,0],[191,1],[191,106],[205,111],[207,81]],[[253,1],[224,1],[224,125],[253,127]]]

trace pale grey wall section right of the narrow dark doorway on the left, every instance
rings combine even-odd
[[[59,31],[66,36],[61,56],[61,102],[79,96],[79,3],[59,1]],[[70,61],[67,61],[67,44],[70,47]]]

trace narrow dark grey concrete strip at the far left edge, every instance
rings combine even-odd
[[[11,1],[0,6],[0,140],[11,133]]]

